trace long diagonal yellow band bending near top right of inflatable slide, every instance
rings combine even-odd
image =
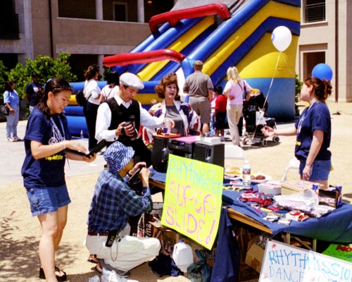
[[[203,66],[203,72],[211,75],[211,73],[218,69],[233,51],[236,50],[269,16],[299,22],[301,20],[300,13],[301,9],[298,7],[270,1],[256,13],[256,16],[253,16],[244,23],[244,25],[239,27],[239,29],[234,32],[234,34],[231,35],[224,44],[222,44],[218,50],[208,58],[208,60],[206,60]],[[279,51],[277,51],[277,53],[278,52]]]

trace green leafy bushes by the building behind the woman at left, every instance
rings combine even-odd
[[[25,87],[29,82],[32,81],[32,73],[38,73],[39,82],[42,85],[45,84],[49,78],[60,77],[64,78],[68,82],[77,81],[77,76],[71,71],[68,60],[70,54],[60,53],[58,59],[54,60],[50,56],[39,55],[32,61],[28,57],[25,58],[25,66],[22,63],[18,63],[10,73],[8,73],[8,79],[15,82],[15,89],[21,99],[25,98]]]

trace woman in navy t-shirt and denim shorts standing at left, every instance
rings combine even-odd
[[[39,257],[42,266],[39,278],[65,281],[65,272],[55,266],[55,252],[67,221],[70,197],[65,184],[65,159],[94,161],[66,152],[74,149],[86,152],[78,140],[71,140],[63,109],[68,105],[72,87],[62,78],[46,82],[39,104],[34,107],[25,131],[25,161],[22,176],[30,200],[32,216],[38,216],[42,226]]]

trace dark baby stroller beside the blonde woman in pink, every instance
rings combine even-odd
[[[268,118],[266,115],[267,110],[268,101],[265,102],[265,97],[260,91],[254,95],[252,94],[249,102],[244,102],[243,114],[244,121],[246,121],[246,132],[242,138],[244,145],[247,143],[261,143],[263,147],[267,147],[269,138],[272,138],[275,143],[279,142],[277,135],[265,137],[261,131],[264,125],[276,128],[275,118]]]

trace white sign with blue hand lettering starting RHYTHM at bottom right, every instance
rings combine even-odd
[[[351,282],[352,264],[275,240],[265,247],[259,282]]]

